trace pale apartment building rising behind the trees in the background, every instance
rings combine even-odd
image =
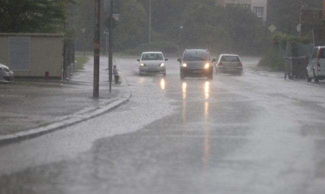
[[[258,17],[266,21],[267,0],[216,0],[216,5],[233,6],[237,5],[243,8],[249,8]]]

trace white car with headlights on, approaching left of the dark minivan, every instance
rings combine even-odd
[[[162,52],[142,52],[139,61],[139,75],[162,74],[166,75],[166,63]]]

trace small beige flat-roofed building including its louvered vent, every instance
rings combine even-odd
[[[64,34],[0,33],[0,63],[15,77],[62,80]]]

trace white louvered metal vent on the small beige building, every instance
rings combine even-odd
[[[29,37],[9,37],[9,66],[13,70],[30,70]]]

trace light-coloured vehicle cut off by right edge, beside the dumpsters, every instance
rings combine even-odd
[[[307,81],[315,83],[325,79],[325,46],[316,46],[313,48],[311,58],[307,65]]]

